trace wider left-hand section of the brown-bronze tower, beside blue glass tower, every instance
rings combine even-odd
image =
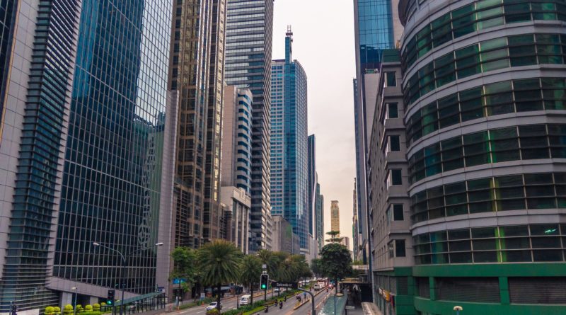
[[[174,238],[175,246],[192,248],[203,241],[211,8],[211,0],[173,4],[169,88],[179,98]]]

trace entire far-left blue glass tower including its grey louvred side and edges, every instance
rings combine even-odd
[[[1,312],[13,302],[18,313],[39,314],[74,294],[84,304],[115,285],[126,297],[155,292],[166,285],[170,250],[171,5],[36,1],[13,10]],[[103,246],[139,250],[127,256],[122,284],[121,260]]]

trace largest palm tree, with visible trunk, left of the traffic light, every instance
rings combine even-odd
[[[198,250],[197,257],[203,284],[218,288],[216,308],[220,311],[222,283],[236,282],[239,277],[240,250],[231,242],[219,239],[204,244]]]

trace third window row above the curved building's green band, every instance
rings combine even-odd
[[[566,159],[566,125],[522,125],[463,134],[409,157],[409,181],[482,164]]]

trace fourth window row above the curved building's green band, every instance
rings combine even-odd
[[[492,115],[565,110],[563,78],[521,79],[478,86],[425,105],[407,120],[411,142],[441,128]]]

